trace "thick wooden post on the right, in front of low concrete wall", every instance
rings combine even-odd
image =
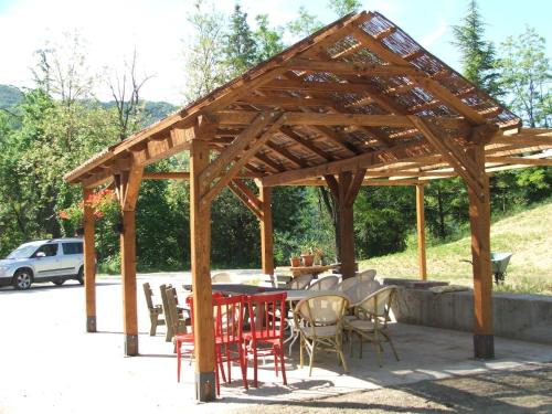
[[[478,194],[477,191],[468,187],[474,268],[474,353],[476,358],[490,359],[495,357],[490,263],[490,192],[489,178],[485,173],[484,146],[479,145],[469,148],[468,157],[476,164],[476,172],[484,184],[482,194]]]

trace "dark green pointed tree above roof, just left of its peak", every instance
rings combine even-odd
[[[247,13],[236,3],[230,17],[230,29],[224,42],[225,64],[231,78],[253,66],[256,61],[256,49],[253,32],[247,23]]]

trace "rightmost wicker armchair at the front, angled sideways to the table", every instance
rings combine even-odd
[[[399,361],[399,354],[388,329],[391,304],[396,295],[396,286],[386,286],[367,296],[355,304],[355,316],[344,319],[344,329],[349,332],[352,355],[352,335],[357,333],[360,340],[360,358],[362,358],[362,340],[368,339],[378,352],[378,362],[382,367],[382,343],[389,342]]]

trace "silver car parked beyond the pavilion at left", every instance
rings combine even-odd
[[[29,289],[33,283],[84,284],[82,238],[52,238],[24,243],[0,261],[0,286]]]

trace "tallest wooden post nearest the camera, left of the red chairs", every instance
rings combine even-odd
[[[195,399],[215,399],[214,329],[211,290],[211,202],[202,203],[209,166],[209,142],[193,139],[190,146],[190,235],[195,338]]]

